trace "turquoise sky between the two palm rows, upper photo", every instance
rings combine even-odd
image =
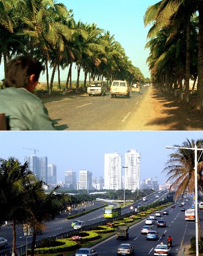
[[[138,67],[145,77],[150,77],[146,58],[148,49],[144,50],[150,27],[144,28],[143,16],[146,8],[158,3],[158,0],[58,0],[68,10],[73,11],[76,22],[97,24],[98,28],[110,31],[125,50],[126,56]],[[61,72],[61,80],[66,80],[67,70]],[[4,78],[3,65],[0,66],[0,79]],[[57,81],[57,72],[55,79]],[[72,69],[72,79],[77,79],[77,70]],[[81,73],[80,80],[84,79]],[[45,81],[45,75],[40,81]]]

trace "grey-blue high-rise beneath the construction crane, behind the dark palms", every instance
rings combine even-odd
[[[28,161],[29,169],[32,170],[39,180],[47,183],[47,157],[26,156],[24,161]]]

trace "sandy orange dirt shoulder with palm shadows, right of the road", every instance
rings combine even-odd
[[[195,97],[189,103],[149,88],[140,108],[126,125],[134,131],[197,131],[203,128],[203,112],[195,109]],[[133,124],[133,127],[131,127]]]

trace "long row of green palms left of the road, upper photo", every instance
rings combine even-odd
[[[77,67],[77,91],[81,70],[92,79],[144,80],[119,42],[96,24],[75,22],[72,10],[54,0],[0,0],[0,56],[4,65],[15,55],[29,54],[45,63],[47,91],[52,92],[55,71],[67,70],[66,90],[71,88],[71,69]],[[53,68],[49,84],[48,67]]]

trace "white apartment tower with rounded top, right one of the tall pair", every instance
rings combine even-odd
[[[125,189],[137,190],[140,188],[140,153],[137,150],[129,150],[125,153],[124,166]]]

